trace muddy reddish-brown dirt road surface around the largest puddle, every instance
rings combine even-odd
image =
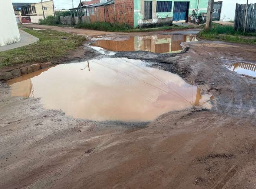
[[[12,97],[0,81],[0,188],[256,188],[256,79],[230,71],[253,45],[185,42],[181,54],[118,52],[150,61],[214,96],[211,109],[150,123],[89,121]],[[102,55],[101,55],[102,56]]]

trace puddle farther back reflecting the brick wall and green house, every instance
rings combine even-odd
[[[93,46],[110,51],[148,51],[154,53],[179,53],[181,42],[197,41],[194,35],[137,35],[124,41],[96,40]],[[98,50],[98,48],[96,48]]]

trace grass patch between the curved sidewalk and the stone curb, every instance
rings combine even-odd
[[[81,35],[72,35],[65,32],[52,30],[23,30],[39,38],[39,42],[37,44],[0,52],[0,68],[19,63],[50,61],[65,55],[68,50],[75,49],[85,40],[85,37]]]

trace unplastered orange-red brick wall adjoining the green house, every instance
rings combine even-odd
[[[114,4],[89,8],[91,22],[125,23],[134,26],[134,0],[115,0]],[[93,8],[94,14],[91,14]],[[105,8],[105,18],[104,18]]]

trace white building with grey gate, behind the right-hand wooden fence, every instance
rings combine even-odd
[[[233,21],[236,12],[236,3],[246,4],[246,0],[222,0],[214,1],[213,19],[220,21]],[[256,0],[249,0],[248,3],[256,3]]]

